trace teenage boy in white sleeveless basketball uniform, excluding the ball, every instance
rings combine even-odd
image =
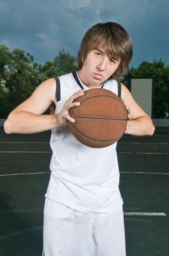
[[[120,94],[128,112],[126,134],[152,135],[151,118],[117,78],[132,58],[132,42],[117,23],[98,23],[84,35],[79,70],[45,80],[25,102],[9,114],[7,133],[52,129],[50,183],[44,206],[45,256],[125,256],[125,228],[119,192],[117,143],[90,148],[68,129],[74,118],[68,110],[74,99],[92,88]],[[55,104],[55,113],[43,115]],[[98,109],[99,111],[99,109]]]

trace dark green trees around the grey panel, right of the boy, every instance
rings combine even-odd
[[[143,61],[138,68],[127,69],[125,83],[130,78],[154,79],[154,118],[165,118],[165,113],[169,113],[169,66],[165,65],[165,61]]]

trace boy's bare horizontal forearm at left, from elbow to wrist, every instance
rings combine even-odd
[[[44,132],[58,126],[56,115],[36,115],[26,111],[11,113],[4,123],[4,131],[10,133],[29,134]]]

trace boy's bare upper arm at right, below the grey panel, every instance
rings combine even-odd
[[[121,95],[122,101],[125,103],[125,106],[127,106],[130,109],[130,118],[135,119],[140,116],[146,116],[149,117],[146,112],[135,102],[135,99],[133,99],[132,94],[127,89],[124,84],[122,84],[122,95]]]

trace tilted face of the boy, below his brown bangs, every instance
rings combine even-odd
[[[120,60],[113,59],[103,49],[94,49],[84,60],[79,76],[88,87],[99,87],[119,67]]]

